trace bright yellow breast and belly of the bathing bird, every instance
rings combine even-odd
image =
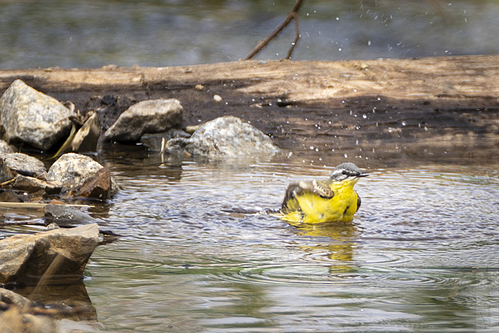
[[[288,222],[321,223],[351,221],[357,211],[357,193],[354,185],[358,179],[344,182],[331,182],[333,198],[322,198],[312,192],[296,195],[289,202],[289,210],[283,212],[282,220]]]

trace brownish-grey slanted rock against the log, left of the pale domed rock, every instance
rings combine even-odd
[[[176,99],[142,101],[121,113],[104,133],[106,140],[138,141],[144,133],[160,133],[182,125],[182,105]]]

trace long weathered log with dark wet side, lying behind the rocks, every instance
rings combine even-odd
[[[106,130],[133,103],[177,98],[184,124],[237,116],[294,156],[404,154],[438,163],[494,163],[499,148],[499,56],[374,61],[238,61],[163,68],[0,71]],[[222,101],[215,101],[215,95]],[[376,165],[373,165],[376,166]]]

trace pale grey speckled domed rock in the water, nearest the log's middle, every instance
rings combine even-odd
[[[165,150],[172,153],[186,150],[207,157],[273,155],[278,151],[267,135],[234,116],[208,121],[190,138],[168,140]]]

